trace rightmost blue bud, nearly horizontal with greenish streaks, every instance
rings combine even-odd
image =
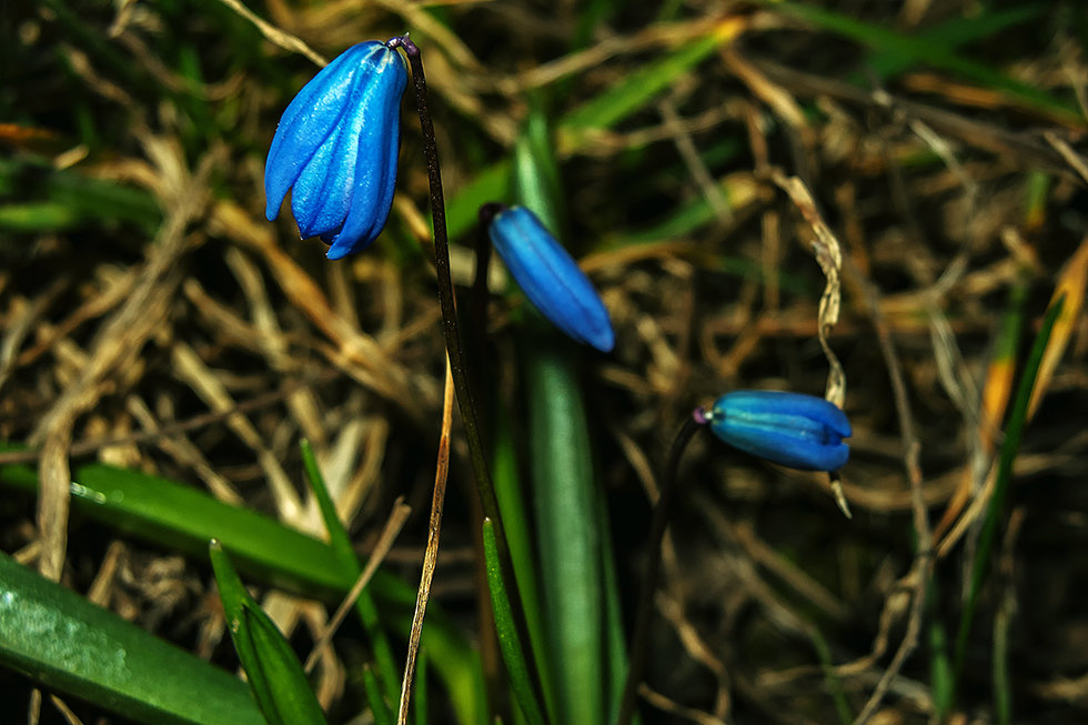
[[[736,391],[714,401],[704,416],[729,445],[792,469],[836,471],[850,456],[843,442],[853,433],[846,413],[815,395]]]

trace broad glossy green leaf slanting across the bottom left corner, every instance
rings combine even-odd
[[[249,687],[234,675],[2,553],[0,664],[138,722],[264,723]]]

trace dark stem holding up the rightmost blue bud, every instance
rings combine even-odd
[[[635,696],[642,682],[643,669],[646,666],[646,650],[649,644],[649,618],[654,611],[654,592],[657,590],[657,574],[661,571],[661,545],[665,538],[665,526],[668,524],[668,513],[672,507],[673,494],[676,491],[676,473],[679,470],[681,456],[687,449],[695,433],[706,425],[703,409],[696,409],[684,426],[676,434],[673,447],[668,453],[665,466],[665,477],[662,481],[661,493],[654,505],[654,515],[649,524],[649,548],[646,551],[646,573],[643,576],[642,590],[638,593],[638,612],[635,615],[635,632],[631,643],[631,665],[627,679],[623,685],[623,698],[619,701],[617,725],[628,725],[635,714]]]

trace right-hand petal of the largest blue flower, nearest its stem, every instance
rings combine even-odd
[[[407,71],[396,51],[382,48],[386,54],[373,64],[366,83],[360,84],[360,95],[351,111],[356,150],[344,161],[354,160],[354,183],[343,226],[326,253],[331,260],[357,252],[377,239],[393,205],[401,145],[397,119]]]

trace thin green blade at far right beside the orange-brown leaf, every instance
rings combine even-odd
[[[1031,391],[1039,372],[1039,363],[1046,352],[1047,341],[1050,339],[1050,331],[1054,329],[1058,314],[1061,312],[1062,300],[1047,310],[1042,326],[1035,338],[1031,352],[1024,366],[1020,383],[1016,389],[1016,397],[1009,413],[1008,423],[1005,427],[1005,440],[1001,443],[1001,453],[998,459],[997,480],[994,484],[994,495],[990,496],[983,520],[983,530],[978,536],[978,545],[975,550],[975,558],[971,562],[970,585],[968,587],[967,601],[960,613],[959,628],[956,633],[956,681],[958,683],[960,674],[964,672],[964,658],[967,653],[967,641],[970,636],[971,620],[978,605],[978,593],[983,588],[983,582],[989,571],[990,556],[994,548],[994,538],[997,528],[1005,518],[1005,499],[1008,494],[1009,483],[1013,480],[1013,463],[1020,447],[1020,439],[1024,435],[1024,426],[1027,422],[1028,403],[1031,400]]]

